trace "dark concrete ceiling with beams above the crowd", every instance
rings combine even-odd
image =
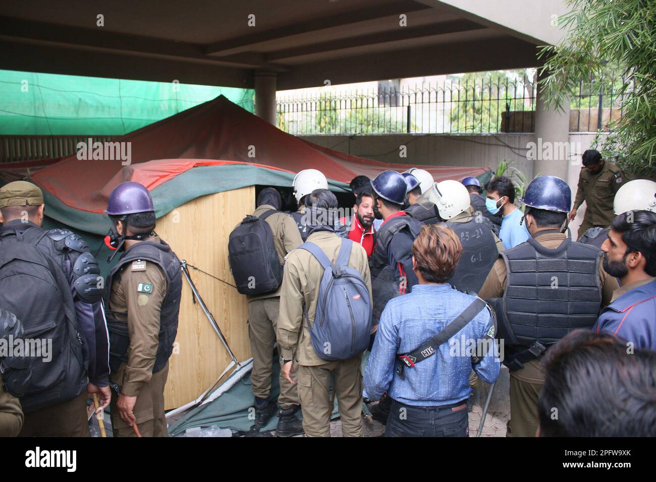
[[[537,65],[539,40],[449,3],[3,2],[0,69],[226,87],[253,87],[265,70],[285,90]]]

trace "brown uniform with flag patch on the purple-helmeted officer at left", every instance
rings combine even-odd
[[[149,241],[159,243],[159,236]],[[145,267],[144,267],[145,264]],[[152,285],[148,294],[142,285]],[[167,294],[164,271],[148,261],[128,263],[114,275],[109,309],[118,321],[127,323],[130,345],[127,363],[121,363],[110,380],[121,387],[121,393],[137,397],[133,413],[139,432],[144,437],[168,437],[164,414],[164,385],[169,365],[153,373],[159,346],[159,316]],[[111,349],[111,347],[110,347]],[[133,437],[134,431],[118,414],[117,397],[112,396],[111,418],[114,437]]]

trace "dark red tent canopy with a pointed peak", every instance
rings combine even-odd
[[[83,211],[102,212],[112,189],[125,180],[142,182],[149,190],[199,165],[249,163],[269,169],[298,172],[314,168],[327,178],[350,182],[359,174],[371,178],[386,169],[405,171],[405,164],[388,164],[316,146],[280,131],[224,96],[205,102],[167,119],[113,140],[129,142],[130,165],[121,160],[81,160],[77,155],[49,163],[31,176],[65,205]],[[127,144],[124,144],[127,151]],[[203,161],[205,160],[205,161]],[[0,172],[16,177],[39,161],[0,166]],[[484,168],[417,166],[436,181],[478,176]],[[24,171],[22,171],[24,172]]]

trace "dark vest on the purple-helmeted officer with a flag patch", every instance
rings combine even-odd
[[[162,246],[164,249],[162,249]],[[165,273],[167,279],[167,292],[162,302],[159,314],[159,346],[155,355],[153,373],[163,369],[173,353],[173,342],[178,332],[178,313],[180,313],[180,295],[182,294],[182,273],[180,260],[167,243],[161,241],[141,241],[134,245],[114,266],[108,276],[107,299],[105,306],[110,306],[112,283],[114,275],[128,263],[136,260],[146,260],[157,264]],[[107,310],[107,327],[110,332],[110,368],[117,371],[121,361],[127,361],[127,349],[130,338],[127,323],[115,319],[113,312]]]

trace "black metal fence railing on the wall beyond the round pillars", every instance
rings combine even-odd
[[[621,79],[606,84],[597,92],[581,82],[573,92],[570,131],[608,130],[619,119]],[[277,127],[294,135],[533,132],[536,93],[521,77],[467,76],[401,89],[280,92]]]

